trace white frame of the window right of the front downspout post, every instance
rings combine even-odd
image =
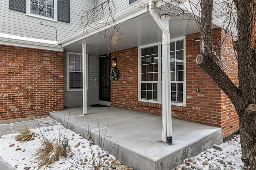
[[[184,70],[183,70],[183,103],[171,102],[175,106],[186,106],[186,37],[179,37],[170,40],[170,43],[183,40],[183,61],[184,61]],[[171,83],[179,83],[180,81],[171,81]]]

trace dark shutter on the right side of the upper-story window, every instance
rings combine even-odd
[[[58,0],[58,21],[69,23],[69,0]]]

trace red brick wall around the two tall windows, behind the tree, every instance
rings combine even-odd
[[[221,53],[230,62],[230,68],[236,70],[234,56],[224,57],[223,53],[230,43],[225,46],[219,44],[223,36],[220,29],[213,31],[214,51],[217,55]],[[172,106],[172,117],[221,127],[224,138],[239,129],[238,117],[228,97],[196,64],[200,45],[198,40],[199,33],[186,36],[186,107]],[[117,51],[111,56],[116,57],[120,71],[118,81],[111,81],[111,105],[161,115],[160,104],[138,102],[138,48]],[[237,81],[233,72],[226,73]],[[196,88],[200,91],[196,92]]]

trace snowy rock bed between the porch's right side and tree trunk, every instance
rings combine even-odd
[[[185,159],[174,170],[242,170],[240,135],[193,158]]]

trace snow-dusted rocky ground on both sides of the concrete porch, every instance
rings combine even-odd
[[[77,158],[74,159],[69,152],[66,159],[62,156],[60,157],[60,160],[56,161],[53,165],[42,167],[40,169],[68,170],[76,169],[77,165],[78,169],[85,170],[92,165],[91,150],[95,155],[100,153],[104,170],[112,168],[116,168],[117,170],[129,169],[127,166],[120,166],[120,162],[116,160],[113,155],[108,154],[108,152],[101,149],[99,151],[98,145],[92,144],[92,149],[90,149],[90,141],[82,138],[80,134],[76,134],[75,132],[62,127],[62,125],[33,129],[31,131],[34,132],[36,136],[34,137],[34,140],[28,142],[15,141],[16,133],[2,135],[0,136],[0,156],[9,162],[9,164],[16,167],[16,169],[37,169],[38,159],[35,159],[32,155],[43,140],[40,130],[44,136],[52,140],[62,139],[65,134],[70,139],[69,146],[73,154],[77,156]],[[81,162],[84,164],[81,165]],[[235,135],[233,139],[226,141],[219,146],[215,145],[214,148],[207,149],[193,158],[185,159],[182,164],[178,165],[174,170],[242,170],[242,166],[240,136]]]

